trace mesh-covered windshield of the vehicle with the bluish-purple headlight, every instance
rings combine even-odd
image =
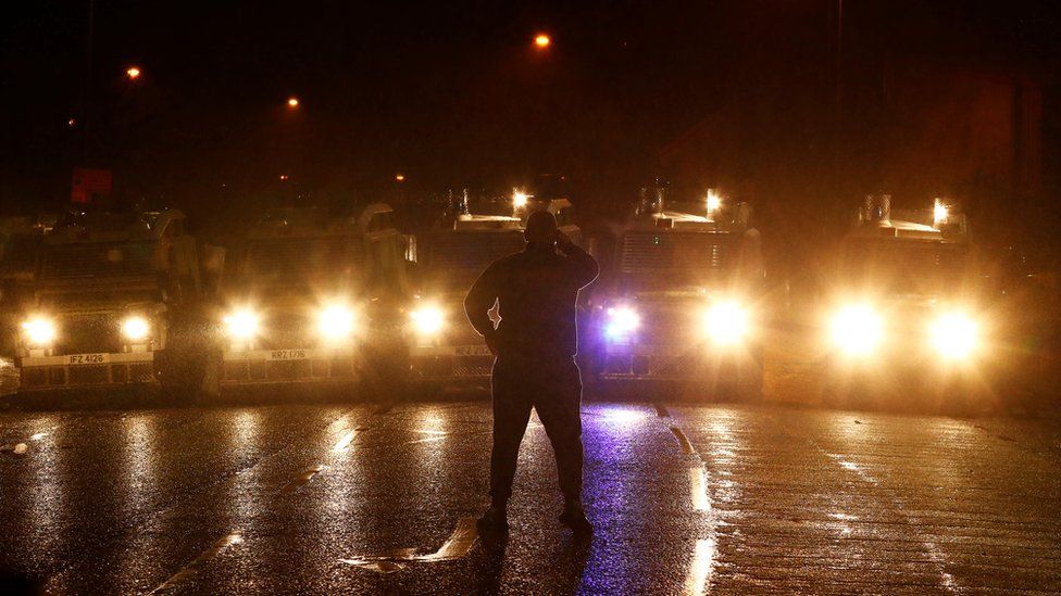
[[[635,292],[708,288],[732,278],[739,258],[732,233],[627,231],[622,281]]]

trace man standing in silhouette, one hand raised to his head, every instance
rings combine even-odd
[[[538,413],[552,443],[564,496],[560,521],[588,533],[592,525],[582,506],[582,379],[574,356],[578,290],[597,279],[597,261],[557,228],[549,212],[530,214],[522,253],[496,261],[464,299],[464,312],[485,339],[494,363],[494,451],[490,456],[490,508],[482,530],[508,529],[520,443]],[[490,320],[498,306],[500,322]]]

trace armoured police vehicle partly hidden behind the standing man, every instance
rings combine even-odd
[[[500,206],[494,213],[470,213],[467,199],[427,234],[421,253],[419,297],[410,313],[411,382],[438,390],[487,386],[494,356],[464,316],[464,296],[488,265],[524,248],[523,230],[534,211],[549,211],[560,230],[582,242],[582,231],[565,198],[537,200],[522,191],[511,198],[480,201]]]

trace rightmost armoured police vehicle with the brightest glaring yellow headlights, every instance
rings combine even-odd
[[[987,353],[977,270],[966,217],[956,207],[936,199],[894,210],[890,196],[867,196],[829,283],[826,400],[925,401],[976,389],[966,381],[978,382]],[[932,395],[897,391],[909,383]]]

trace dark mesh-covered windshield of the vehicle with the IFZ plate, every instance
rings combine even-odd
[[[42,252],[42,281],[150,278],[155,271],[154,244],[80,242],[47,245]]]

